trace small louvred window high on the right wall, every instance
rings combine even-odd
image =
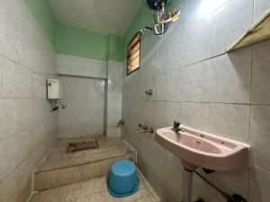
[[[139,69],[140,34],[136,33],[130,40],[127,54],[127,75]]]

